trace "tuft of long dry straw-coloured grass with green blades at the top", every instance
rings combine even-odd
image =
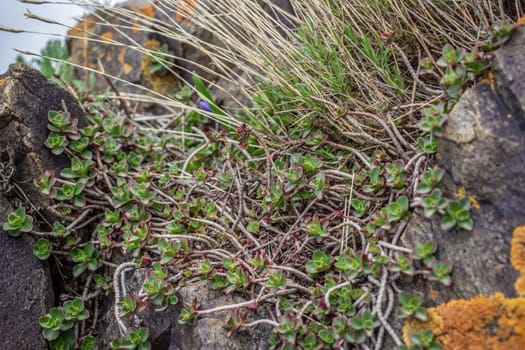
[[[323,127],[339,134],[340,139],[368,143],[370,139],[367,141],[367,136],[363,136],[366,134],[385,139],[389,144],[392,140],[384,133],[383,124],[395,120],[398,125],[408,127],[405,136],[409,138],[407,142],[413,143],[410,126],[414,119],[407,117],[442,97],[439,79],[421,75],[422,60],[428,59],[435,66],[447,42],[471,50],[492,24],[503,19],[515,20],[523,14],[520,1],[489,0],[475,4],[293,0],[289,4],[282,1],[281,7],[268,0],[159,0],[148,6],[148,11],[109,8],[86,0],[72,2],[91,9],[96,21],[126,37],[125,42],[113,42],[114,45],[153,54],[126,35],[125,29],[155,28],[155,34],[166,40],[184,42],[204,52],[211,64],[193,62],[192,67],[202,75],[213,76],[215,82],[241,85],[240,94],[244,96],[236,92],[237,95],[229,96],[232,100],[253,100],[254,96],[260,96],[257,105],[263,104],[265,108],[255,112],[256,122],[252,119],[248,123],[262,129],[266,137],[274,136],[277,142],[290,136],[288,129],[309,119],[322,120]],[[111,16],[123,19],[124,24],[113,25],[108,21]],[[213,33],[214,40],[192,36],[188,22],[206,28]],[[80,36],[104,40],[94,33]],[[184,71],[187,68],[175,65],[167,69],[180,80],[191,79],[188,74],[191,72]],[[208,83],[213,85],[214,81]],[[273,92],[282,95],[286,107],[271,106],[268,111],[266,107],[275,101],[261,91],[261,85],[271,86]],[[218,89],[222,86],[219,84]],[[223,93],[228,95],[229,91]],[[148,94],[149,102],[153,95],[156,103],[184,108],[168,96],[151,91]],[[140,100],[143,96],[131,98]],[[255,108],[239,103],[247,109]],[[215,119],[231,126],[247,121],[231,111],[226,114],[227,117],[215,116]],[[283,114],[291,115],[293,121],[287,125],[273,121]],[[280,127],[276,129],[275,125]]]

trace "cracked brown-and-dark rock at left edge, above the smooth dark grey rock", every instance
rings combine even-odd
[[[32,184],[46,170],[69,166],[65,156],[57,157],[44,146],[47,114],[50,110],[63,111],[64,106],[83,125],[83,112],[76,99],[37,70],[12,64],[0,76],[0,156],[3,163],[12,163],[16,169],[11,183],[19,185],[6,196],[11,198],[16,193],[19,198],[28,198],[32,207],[43,208],[46,215],[51,215],[45,212],[48,198]]]

